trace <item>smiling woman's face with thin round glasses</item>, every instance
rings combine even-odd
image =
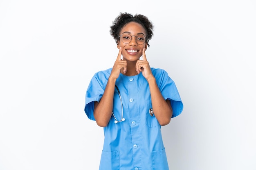
[[[130,22],[121,29],[120,35],[117,48],[122,48],[123,60],[137,61],[143,48],[147,48],[145,29],[137,22]]]

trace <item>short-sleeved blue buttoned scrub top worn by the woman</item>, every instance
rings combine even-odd
[[[94,74],[85,96],[85,113],[93,116],[94,101],[99,102],[112,68]],[[173,117],[183,110],[183,103],[174,81],[162,69],[151,68],[165,100],[171,100]],[[104,127],[104,144],[99,170],[169,170],[162,141],[161,126],[152,108],[148,82],[142,73],[135,76],[120,74],[116,85],[123,102],[124,122],[115,124],[112,116]],[[115,89],[113,113],[121,120],[121,102]]]

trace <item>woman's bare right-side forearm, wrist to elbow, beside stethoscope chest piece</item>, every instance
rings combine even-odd
[[[152,101],[152,109],[155,117],[157,118],[160,125],[164,126],[171,121],[171,117],[173,114],[171,108],[171,102],[166,101],[162,96],[155,77],[148,78],[148,85],[150,89],[151,101]]]

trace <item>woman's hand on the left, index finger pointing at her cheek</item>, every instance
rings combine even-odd
[[[112,72],[110,74],[110,77],[115,78],[115,79],[117,79],[119,77],[122,69],[124,69],[123,70],[124,74],[127,71],[127,61],[124,61],[121,59],[121,54],[122,54],[122,48],[120,47],[119,53],[117,55],[117,60],[115,61],[115,64],[112,68]]]

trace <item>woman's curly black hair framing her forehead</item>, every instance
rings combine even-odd
[[[110,35],[115,39],[116,43],[119,40],[121,29],[130,22],[137,22],[143,26],[143,28],[146,30],[146,43],[148,44],[148,41],[153,36],[154,26],[152,22],[144,15],[136,14],[133,16],[130,13],[120,13],[120,15],[117,16],[112,22],[112,26],[110,26]]]

